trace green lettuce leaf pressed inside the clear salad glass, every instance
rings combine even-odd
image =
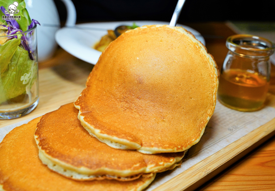
[[[28,51],[17,46],[7,69],[1,73],[0,104],[21,94],[29,94],[37,79],[37,68],[37,63],[29,58]]]

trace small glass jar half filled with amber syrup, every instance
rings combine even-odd
[[[218,87],[218,100],[238,111],[256,111],[264,106],[270,81],[269,56],[275,44],[247,34],[227,38],[229,49]]]

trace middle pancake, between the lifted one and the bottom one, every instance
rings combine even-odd
[[[68,178],[130,181],[173,169],[184,157],[184,152],[147,155],[109,147],[89,135],[77,114],[73,103],[63,105],[45,114],[35,131],[41,161]]]

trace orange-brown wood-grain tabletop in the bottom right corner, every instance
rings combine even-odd
[[[275,138],[201,186],[200,191],[275,190]]]

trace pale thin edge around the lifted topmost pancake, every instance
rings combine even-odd
[[[145,26],[142,26],[142,27],[137,27],[137,28],[135,28],[133,30],[127,30],[125,33],[129,33],[131,31],[139,30],[139,29],[142,29],[142,28],[147,28],[148,26],[150,26],[150,25],[145,25]],[[211,109],[209,109],[210,112],[206,112],[208,116],[206,118],[205,125],[204,125],[203,129],[201,130],[200,136],[196,140],[193,140],[193,143],[191,143],[187,147],[182,148],[181,150],[178,150],[177,147],[174,147],[172,149],[163,149],[163,148],[159,148],[159,147],[142,147],[142,145],[140,145],[140,144],[138,144],[136,142],[131,142],[131,141],[127,140],[127,139],[122,139],[122,138],[118,138],[118,137],[114,137],[114,136],[109,136],[109,135],[104,134],[104,133],[100,133],[99,129],[96,129],[93,125],[90,125],[89,123],[87,123],[85,121],[85,117],[81,115],[82,112],[80,111],[81,110],[80,109],[80,105],[76,105],[75,102],[74,102],[74,105],[75,105],[75,108],[79,109],[78,118],[79,118],[82,126],[90,133],[91,136],[96,137],[99,141],[107,144],[108,146],[110,146],[112,148],[137,150],[138,152],[143,153],[143,154],[182,152],[184,150],[189,149],[194,144],[196,144],[196,143],[198,143],[200,141],[200,138],[201,138],[201,136],[204,133],[205,127],[206,127],[207,123],[209,122],[211,116],[214,113],[215,106],[216,106],[216,100],[217,100],[218,84],[219,84],[219,81],[218,81],[218,78],[219,78],[218,66],[217,66],[217,64],[216,64],[213,56],[207,52],[207,48],[200,41],[198,41],[196,39],[196,37],[191,32],[189,32],[188,30],[186,30],[186,29],[184,29],[182,27],[171,27],[170,25],[155,25],[154,27],[168,27],[168,28],[177,30],[177,31],[179,31],[179,32],[187,35],[189,38],[191,38],[191,40],[194,43],[197,44],[197,46],[200,47],[200,51],[204,52],[203,55],[205,55],[208,58],[209,62],[211,63],[211,66],[215,70],[215,74],[216,75],[215,76],[211,75],[211,77],[215,77],[216,78],[216,84],[217,84],[216,89],[214,90],[214,93],[213,93],[213,105],[212,105]],[[105,48],[105,50],[106,49],[107,48]],[[103,52],[105,52],[105,50]],[[103,54],[103,52],[102,52],[102,54]],[[89,78],[90,77],[88,77],[87,81],[89,80]],[[80,96],[81,95],[82,94],[80,94]]]

